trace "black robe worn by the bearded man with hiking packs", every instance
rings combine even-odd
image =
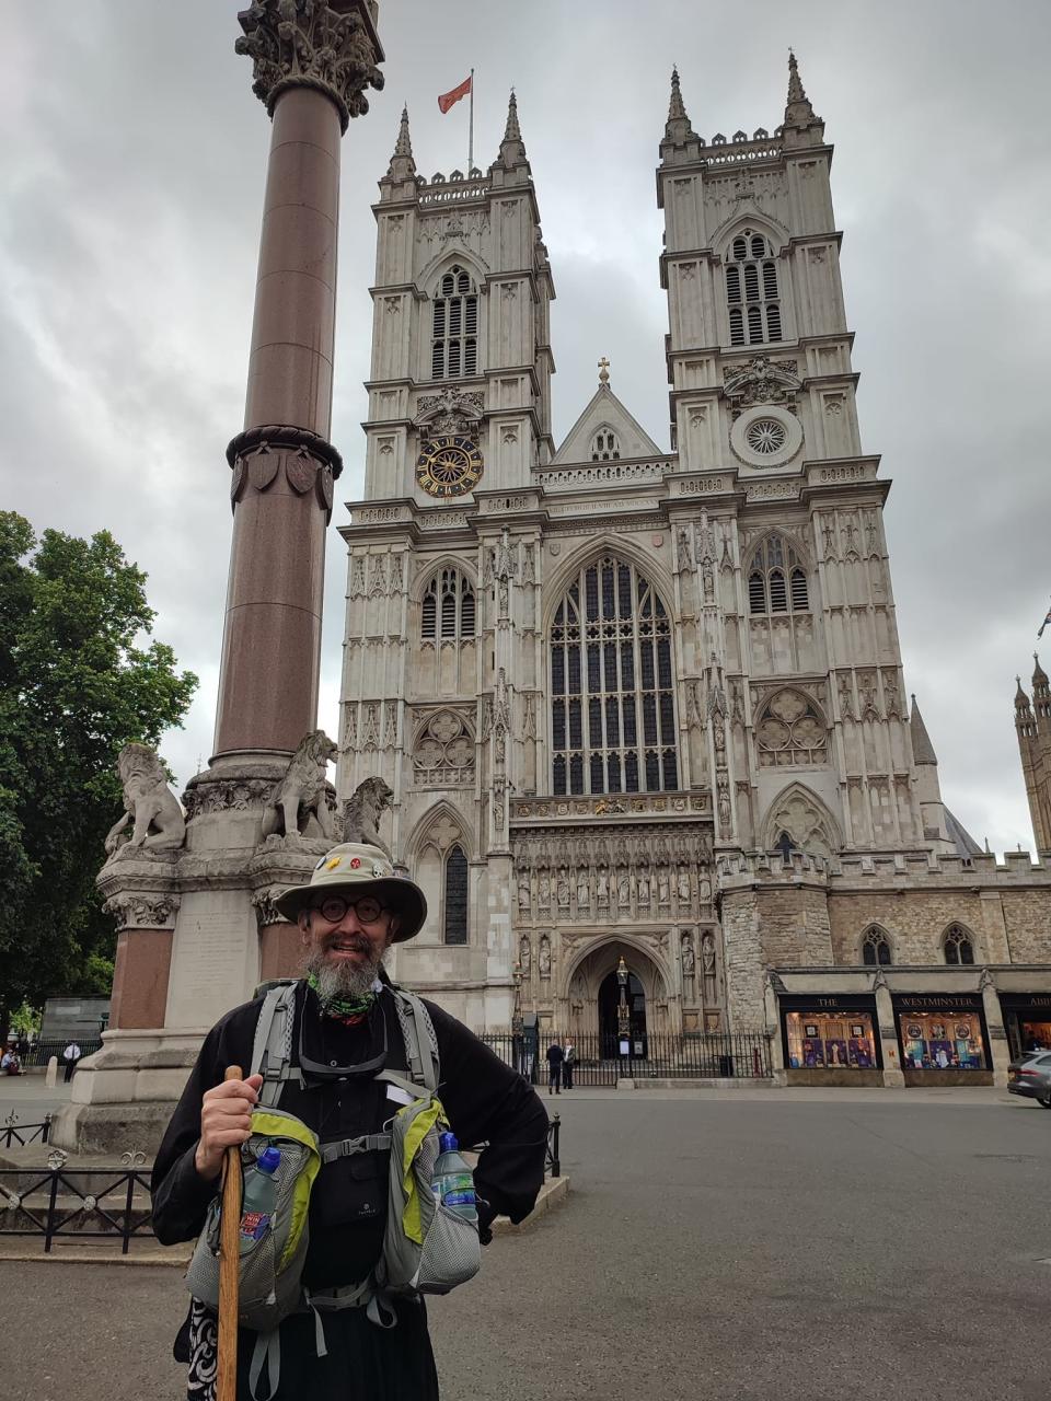
[[[245,1073],[252,1055],[262,999],[235,1007],[207,1034],[191,1072],[153,1170],[153,1226],[165,1245],[200,1233],[219,1182],[203,1181],[193,1164],[200,1136],[200,1100],[219,1084],[228,1065]],[[537,1094],[471,1031],[434,1003],[426,1003],[439,1045],[439,1097],[461,1146],[486,1143],[475,1170],[482,1238],[495,1216],[523,1220],[544,1181],[548,1118]],[[303,1047],[310,1061],[353,1066],[387,1051],[391,1070],[405,1070],[405,1042],[384,991],[367,1021],[346,1027],[321,1014],[315,995],[300,985],[293,1027],[293,1061]],[[397,1110],[387,1086],[373,1075],[290,1083],[282,1108],[296,1114],[322,1142],[376,1133]],[[385,1153],[338,1159],[322,1167],[310,1205],[310,1247],[304,1283],[315,1289],[356,1283],[376,1265],[387,1220]],[[401,1303],[398,1325],[388,1331],[369,1323],[364,1310],[324,1314],[328,1355],[317,1356],[314,1317],[293,1314],[280,1325],[280,1388],[275,1401],[310,1395],[311,1401],[429,1401],[437,1374],[422,1303]],[[193,1306],[175,1342],[175,1356],[191,1362],[207,1344],[213,1320]],[[248,1401],[248,1360],[255,1334],[242,1331],[238,1346],[238,1401]],[[205,1339],[202,1342],[202,1338]],[[210,1353],[209,1353],[210,1356]],[[191,1367],[193,1377],[200,1372]],[[207,1366],[205,1367],[207,1372]],[[195,1401],[207,1390],[191,1387]]]

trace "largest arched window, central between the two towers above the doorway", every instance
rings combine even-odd
[[[671,623],[633,565],[580,570],[551,628],[555,793],[678,787]]]

